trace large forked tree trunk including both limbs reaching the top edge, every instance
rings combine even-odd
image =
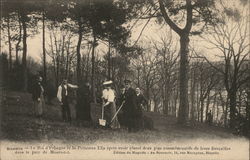
[[[180,36],[180,104],[178,112],[178,124],[186,125],[188,120],[188,46],[189,33],[193,24],[193,7],[191,0],[186,0],[186,25],[183,29],[179,28],[170,18],[165,9],[163,0],[158,0],[160,11],[166,23]]]

